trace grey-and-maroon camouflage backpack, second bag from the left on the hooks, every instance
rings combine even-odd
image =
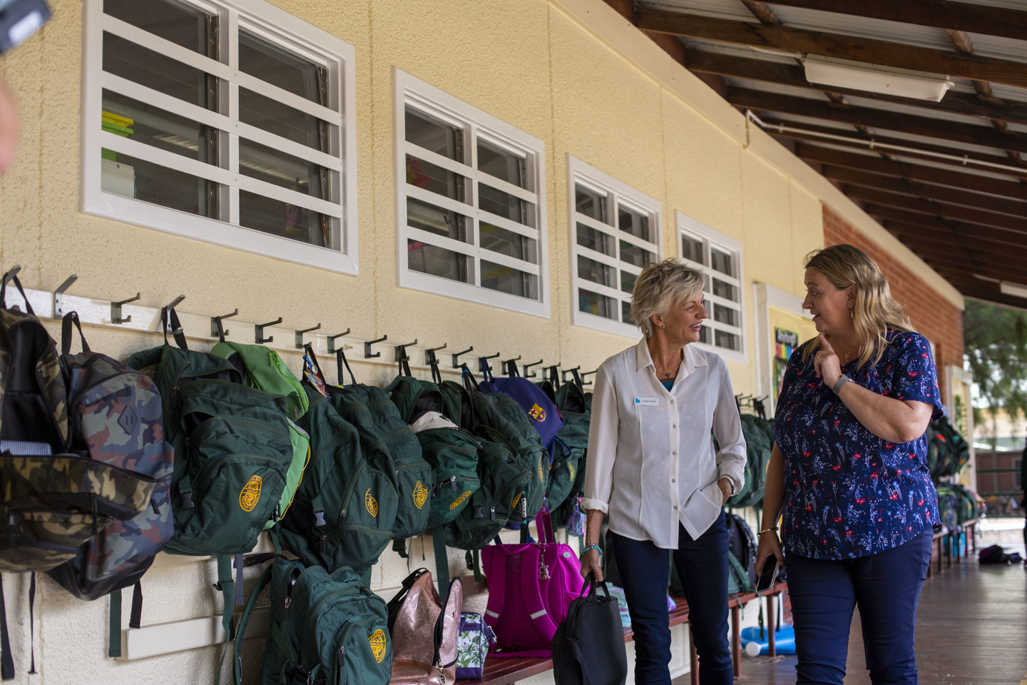
[[[72,324],[82,341],[79,354],[70,353]],[[153,483],[142,511],[111,522],[79,547],[75,559],[49,571],[68,592],[94,600],[136,583],[175,532],[169,501],[174,452],[164,440],[160,394],[153,381],[91,351],[74,311],[64,317],[61,364],[72,449]]]

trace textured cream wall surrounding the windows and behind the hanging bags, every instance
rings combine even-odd
[[[183,309],[190,312],[238,307],[245,320],[281,315],[286,326],[351,327],[357,338],[387,333],[390,341],[473,344],[476,350],[501,350],[504,356],[541,356],[550,364],[594,369],[633,341],[570,325],[566,159],[572,154],[662,202],[664,255],[677,255],[676,210],[743,242],[750,350],[755,344],[752,283],[802,292],[799,260],[823,244],[821,200],[827,191],[790,173],[779,159],[768,160],[765,142],[749,145],[736,112],[668,63],[603,2],[365,0],[337,11],[326,11],[326,3],[315,0],[276,4],[355,47],[358,276],[79,214],[77,0],[51,0],[53,20],[0,60],[20,101],[23,125],[18,160],[0,177],[0,264],[22,264],[23,281],[31,288],[52,289],[74,272],[79,275],[74,292],[96,298],[122,299],[141,291],[141,304],[160,306],[184,293]],[[393,67],[545,142],[549,318],[395,287]],[[771,149],[770,154],[781,152]],[[120,356],[159,340],[98,329],[87,334],[94,348]],[[286,358],[298,369],[296,355]],[[354,371],[379,384],[391,375],[386,367],[359,363]],[[736,392],[755,389],[755,354],[749,354],[748,364],[732,363],[730,371]],[[426,546],[425,563],[433,568],[431,545]],[[415,551],[420,553],[419,543]],[[451,550],[452,570],[462,563],[462,555]],[[416,554],[411,568],[421,564]],[[146,577],[144,621],[217,611],[211,566],[155,568]],[[373,584],[395,587],[406,573],[407,564],[388,551],[375,568]],[[25,683],[27,582],[10,576],[5,585],[15,626],[17,682]],[[474,602],[480,605],[482,598]],[[83,675],[89,682],[143,685],[211,678],[216,648],[128,663],[106,658],[106,600],[73,600],[43,578],[36,606],[40,676],[33,682],[82,682]],[[249,646],[249,652],[256,650]]]

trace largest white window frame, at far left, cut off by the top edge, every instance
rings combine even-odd
[[[356,115],[355,50],[344,40],[322,31],[264,0],[178,0],[220,15],[223,53],[219,62],[105,14],[103,0],[84,0],[82,9],[82,144],[81,211],[107,219],[144,226],[194,240],[243,250],[289,262],[348,273],[357,273],[356,245]],[[326,108],[238,70],[238,29],[259,35],[329,69]],[[143,44],[184,64],[205,71],[227,84],[229,115],[185,103],[158,90],[103,71],[103,34],[111,32]],[[327,154],[238,121],[239,87],[287,103],[333,124],[335,138]],[[227,167],[215,166],[101,130],[104,88],[154,104],[226,134]],[[280,149],[338,173],[334,192],[338,202],[269,184],[239,174],[239,137]],[[101,189],[101,149],[106,148],[151,160],[227,188],[228,221],[200,217]],[[254,192],[318,212],[340,223],[339,249],[321,248],[239,225],[239,190]]]

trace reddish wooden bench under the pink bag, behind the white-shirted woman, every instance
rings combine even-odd
[[[765,594],[767,597],[767,609],[771,614],[768,624],[771,656],[776,653],[773,646],[774,617],[776,615],[774,612],[774,599],[781,594],[786,584],[784,582],[778,582],[774,585],[772,591]],[[732,597],[727,605],[730,610],[731,618],[731,659],[733,662],[735,678],[739,678],[741,676],[740,610],[745,605],[755,600],[757,597],[759,596],[756,593],[746,593],[745,595]],[[684,598],[674,598],[674,601],[677,604],[677,608],[670,613],[671,627],[688,622],[688,604],[685,602]],[[630,642],[634,636],[635,634],[631,629],[624,629],[624,642]],[[691,659],[691,682],[692,685],[697,685],[698,657],[695,653],[695,645],[692,642],[690,632],[688,635],[688,651]],[[482,680],[459,680],[457,681],[457,685],[511,685],[520,680],[530,678],[531,676],[537,676],[538,674],[545,673],[551,669],[553,659],[549,657],[488,656],[485,659],[485,673]]]

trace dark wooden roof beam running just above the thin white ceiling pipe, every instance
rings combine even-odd
[[[1024,71],[1027,72],[1027,65]],[[984,145],[999,150],[1027,152],[1027,134],[1000,131],[971,123],[944,121],[900,112],[885,112],[869,107],[854,107],[838,103],[825,103],[809,98],[782,96],[749,88],[731,88],[727,100],[735,107],[753,110],[797,114],[801,116],[840,121],[853,125],[886,128],[915,136]]]

